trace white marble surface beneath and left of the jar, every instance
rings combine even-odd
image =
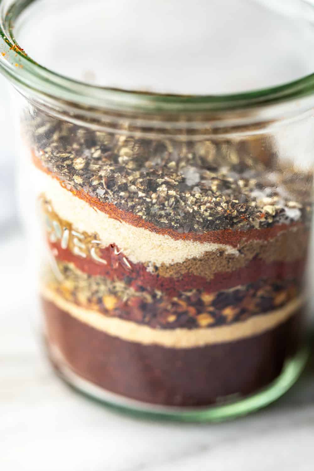
[[[274,406],[214,425],[137,420],[73,392],[53,374],[33,325],[26,245],[0,241],[0,470],[311,471],[314,361]]]

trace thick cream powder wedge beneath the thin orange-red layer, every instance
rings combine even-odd
[[[72,223],[78,231],[86,231],[89,234],[96,232],[105,247],[116,244],[133,263],[171,265],[193,257],[199,258],[205,252],[211,251],[221,251],[234,256],[239,254],[231,245],[175,240],[169,235],[156,234],[143,227],[131,226],[124,221],[110,218],[72,195],[56,179],[37,169],[33,170],[33,185],[38,195],[43,193],[51,201],[54,211],[61,219]]]

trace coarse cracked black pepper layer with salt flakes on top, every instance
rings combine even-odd
[[[40,165],[73,191],[178,234],[306,224],[312,172],[278,170],[244,141],[134,138],[38,113],[25,135]]]

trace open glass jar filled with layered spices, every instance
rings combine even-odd
[[[17,44],[24,3],[0,2],[0,69],[56,371],[179,420],[278,398],[306,361],[314,78],[213,97],[91,86]]]

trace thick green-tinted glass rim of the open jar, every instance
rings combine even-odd
[[[314,73],[280,85],[240,93],[175,95],[91,85],[38,64],[19,46],[14,24],[36,0],[0,0],[0,72],[35,95],[115,111],[211,112],[268,106],[312,95]]]

